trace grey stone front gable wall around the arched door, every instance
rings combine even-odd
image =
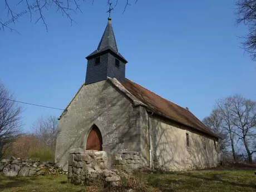
[[[103,151],[140,152],[139,113],[139,107],[107,80],[82,86],[59,121],[56,163],[67,170],[68,151],[86,147],[92,125],[101,132]]]

